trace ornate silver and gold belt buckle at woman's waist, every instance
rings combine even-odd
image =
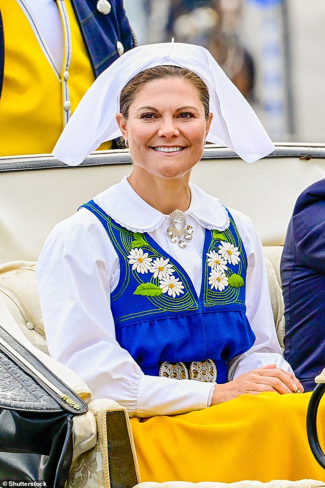
[[[184,362],[164,361],[160,366],[159,376],[214,383],[217,379],[217,367],[212,359],[192,361],[188,368]]]

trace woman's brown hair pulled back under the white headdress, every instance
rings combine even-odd
[[[193,71],[179,66],[155,66],[140,71],[135,75],[122,89],[119,97],[119,111],[125,118],[128,118],[129,108],[135,99],[137,91],[146,83],[152,82],[155,79],[166,78],[184,78],[193,83],[198,91],[199,97],[204,105],[205,117],[209,118],[209,90],[204,81]]]

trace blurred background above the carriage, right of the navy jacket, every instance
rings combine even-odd
[[[209,49],[275,142],[324,144],[324,0],[124,0],[139,44]]]

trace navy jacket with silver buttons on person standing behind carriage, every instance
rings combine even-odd
[[[96,78],[119,57],[116,46],[118,41],[123,44],[125,52],[136,45],[133,31],[123,8],[123,0],[109,0],[111,11],[107,15],[98,12],[96,0],[70,1]],[[0,12],[0,96],[5,57],[4,43]]]

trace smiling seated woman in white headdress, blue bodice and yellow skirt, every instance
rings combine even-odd
[[[38,261],[51,354],[126,406],[143,481],[320,479],[256,232],[189,184],[206,139],[248,161],[270,139],[205,49],[173,43],[103,73],[54,155],[79,164],[118,134],[131,175],[56,226]]]

